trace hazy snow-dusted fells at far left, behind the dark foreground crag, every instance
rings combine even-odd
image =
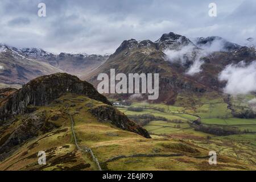
[[[38,48],[15,48],[0,44],[0,88],[20,88],[28,81],[56,72],[86,75],[104,63],[108,55],[60,53]]]

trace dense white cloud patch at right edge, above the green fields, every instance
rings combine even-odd
[[[256,92],[256,61],[246,65],[244,61],[230,64],[219,75],[220,81],[226,81],[225,93],[237,95]]]

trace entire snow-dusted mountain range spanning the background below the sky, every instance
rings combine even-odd
[[[255,52],[254,47],[240,46],[218,36],[189,39],[174,32],[163,34],[155,42],[124,40],[110,56],[64,52],[55,55],[43,49],[1,44],[0,81],[3,88],[6,84],[23,85],[38,76],[67,72],[97,86],[98,74],[109,73],[112,68],[117,73],[159,73],[164,90],[159,101],[170,97],[172,103],[180,90],[221,92],[225,82],[218,80],[218,74],[226,65],[251,63],[256,60]]]

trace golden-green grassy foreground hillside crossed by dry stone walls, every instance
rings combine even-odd
[[[155,114],[166,117],[168,121],[148,123],[145,127],[150,131],[152,138],[146,139],[141,135],[121,130],[108,121],[99,121],[90,114],[91,107],[101,104],[101,102],[90,100],[85,96],[64,94],[50,105],[36,107],[37,110],[34,114],[42,112],[46,114],[47,122],[57,126],[56,129],[31,138],[22,146],[16,147],[10,156],[0,162],[0,169],[96,170],[96,163],[84,150],[85,148],[90,148],[93,151],[104,170],[256,169],[253,137],[246,138],[246,143],[244,138],[233,141],[231,136],[214,137],[210,135],[212,138],[209,140],[207,139],[208,134],[190,129],[187,123],[188,119],[176,115],[172,117],[171,113],[163,115],[161,111],[158,111]],[[71,114],[75,122],[74,131],[81,150],[75,146],[67,105],[69,106],[68,113]],[[174,108],[176,111],[181,109]],[[22,122],[24,117],[27,116],[18,115],[11,126],[1,126],[0,141],[11,133],[14,126]],[[171,119],[174,118],[180,118],[181,123],[171,122]],[[180,127],[175,127],[175,125],[180,125]],[[156,132],[154,133],[154,131]],[[251,141],[252,144],[248,141]],[[239,147],[245,148],[246,153],[238,152]],[[42,150],[46,151],[47,164],[40,166],[37,154]],[[208,164],[210,150],[220,150],[217,166]],[[236,152],[239,154],[238,156]]]

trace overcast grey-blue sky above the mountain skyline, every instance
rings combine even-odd
[[[46,17],[38,3],[46,3]],[[208,15],[217,4],[217,17]],[[123,40],[157,40],[167,32],[256,37],[255,0],[1,0],[0,42],[46,51],[112,53]]]

